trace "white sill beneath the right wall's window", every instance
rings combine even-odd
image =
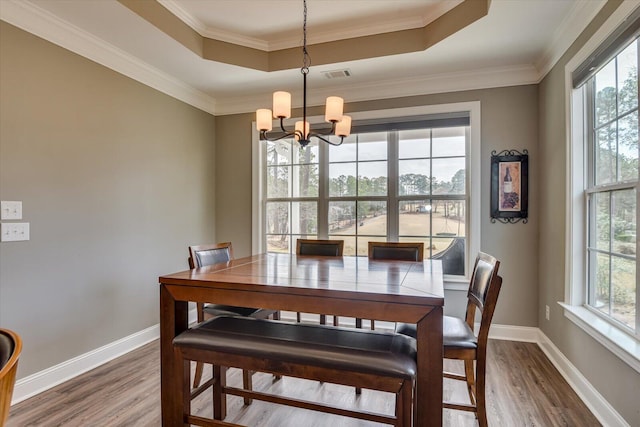
[[[591,313],[584,307],[558,302],[567,319],[618,356],[636,372],[640,372],[640,341]]]

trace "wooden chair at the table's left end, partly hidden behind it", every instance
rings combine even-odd
[[[231,245],[231,242],[189,246],[189,267],[192,269],[204,267],[207,265],[225,263],[231,261],[232,259],[233,247]],[[266,319],[269,317],[273,317],[274,319],[280,318],[279,311],[277,310],[266,310],[253,307],[237,307],[223,304],[204,304],[198,302],[196,303],[196,310],[198,323],[202,323],[207,319],[220,315],[247,316],[254,317],[256,319]],[[194,391],[192,393],[192,397],[198,396],[212,384],[213,378],[212,380],[203,384],[202,387],[200,386],[203,370],[203,363],[197,362],[196,371],[193,376]],[[245,389],[247,390],[250,390],[252,387],[251,375],[251,372],[242,372],[243,384]],[[250,399],[245,399],[245,404],[248,405],[250,403]]]

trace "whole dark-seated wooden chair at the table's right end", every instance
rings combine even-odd
[[[464,375],[444,372],[444,378],[465,381],[471,404],[443,402],[442,406],[459,411],[475,412],[480,427],[487,427],[485,398],[485,378],[487,369],[487,341],[491,319],[502,287],[502,277],[498,275],[500,261],[480,252],[476,258],[469,291],[465,318],[444,316],[442,335],[444,358],[463,360]],[[474,333],[476,310],[481,313],[480,327]],[[416,326],[400,323],[396,332],[416,337]],[[475,362],[475,372],[474,372]]]

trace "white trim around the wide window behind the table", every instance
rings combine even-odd
[[[441,113],[453,113],[453,112],[468,112],[469,113],[469,155],[467,157],[467,173],[469,174],[469,203],[471,214],[469,218],[469,233],[467,236],[467,242],[469,245],[467,266],[472,266],[475,260],[475,254],[480,251],[481,242],[481,230],[480,230],[480,217],[481,217],[481,182],[480,182],[480,170],[482,166],[482,159],[480,157],[480,136],[482,134],[480,128],[480,101],[471,102],[459,102],[452,104],[439,104],[439,105],[424,105],[419,107],[406,107],[406,108],[394,108],[387,110],[373,110],[373,111],[361,111],[349,113],[352,120],[368,120],[368,119],[383,119],[392,117],[411,117],[428,114],[441,114]],[[295,119],[291,119],[294,121]],[[324,116],[309,117],[307,120],[311,124],[322,123]],[[279,122],[274,121],[274,128],[279,126]],[[264,171],[261,168],[262,165],[262,150],[260,149],[260,134],[256,130],[255,122],[252,123],[252,240],[251,248],[254,254],[264,252],[265,242],[263,239],[263,223],[261,218],[263,217],[263,203],[261,194],[261,188],[263,184]],[[467,276],[469,275],[470,268],[467,268]],[[469,288],[469,278],[465,277],[458,280],[446,280],[445,290],[461,290],[466,291]]]

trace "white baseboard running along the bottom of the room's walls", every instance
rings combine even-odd
[[[294,320],[293,313],[284,312],[284,320]],[[189,312],[189,322],[196,320],[195,309]],[[303,320],[307,320],[306,318]],[[311,320],[311,319],[309,319]],[[346,319],[345,319],[346,320]],[[341,322],[342,323],[342,322]],[[348,322],[345,322],[348,323]],[[376,324],[377,325],[377,324]],[[391,323],[390,323],[391,325]],[[380,325],[380,329],[387,329]],[[378,327],[376,327],[378,329]],[[391,328],[389,328],[391,329]],[[44,371],[37,372],[16,382],[11,404],[16,404],[35,396],[56,385],[68,381],[84,372],[94,369],[123,354],[159,338],[159,325],[151,326],[143,331],[124,337],[118,341],[67,360]],[[493,339],[533,342],[540,346],[551,363],[558,369],[571,388],[582,399],[595,417],[605,427],[629,427],[629,424],[616,412],[589,381],[576,369],[564,354],[539,329],[525,326],[497,325],[491,326],[489,337]]]

